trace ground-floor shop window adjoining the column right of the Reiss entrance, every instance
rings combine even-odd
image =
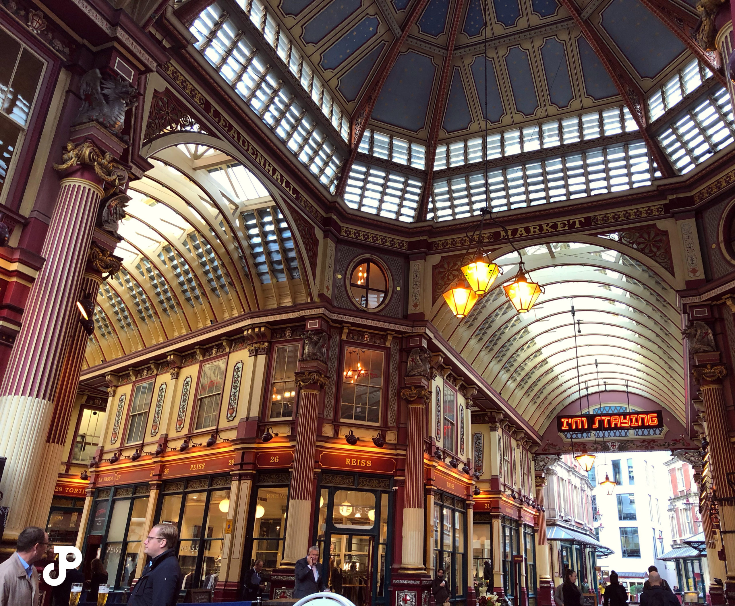
[[[465,580],[464,502],[448,494],[434,497],[434,570],[444,569],[451,598],[463,596]]]

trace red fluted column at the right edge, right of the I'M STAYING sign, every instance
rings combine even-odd
[[[709,354],[708,354],[709,355]],[[697,358],[695,354],[695,358]],[[718,354],[719,357],[719,354]],[[716,501],[720,508],[720,535],[725,558],[735,563],[735,490],[728,483],[728,472],[735,470],[735,451],[728,436],[722,380],[727,375],[723,364],[700,364],[693,370],[700,384],[709,441],[709,472],[714,480]],[[709,560],[709,558],[708,558]],[[735,603],[735,574],[730,567],[725,583],[728,604]]]

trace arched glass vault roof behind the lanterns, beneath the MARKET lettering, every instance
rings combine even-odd
[[[453,317],[443,297],[432,310],[431,321],[490,386],[537,428],[604,382],[606,389],[625,389],[627,381],[631,392],[684,419],[673,288],[602,238],[535,245],[520,254],[545,287],[528,314],[517,314],[501,290],[503,278],[517,273],[517,253],[496,259],[503,276],[465,320]],[[578,332],[571,306],[581,320]]]

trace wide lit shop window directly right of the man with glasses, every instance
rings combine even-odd
[[[232,480],[201,477],[185,482],[185,486],[184,480],[163,485],[158,521],[179,529],[182,589],[214,589],[220,577],[226,522],[232,519]]]

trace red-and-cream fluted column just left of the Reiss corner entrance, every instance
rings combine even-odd
[[[322,364],[322,366],[324,366]],[[314,458],[316,454],[319,403],[329,378],[323,369],[299,370],[295,373],[298,392],[296,445],[288,500],[286,540],[282,566],[290,567],[304,558],[309,549],[309,527],[313,514]]]

